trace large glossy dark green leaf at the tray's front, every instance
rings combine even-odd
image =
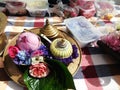
[[[73,77],[67,67],[58,60],[45,60],[50,68],[50,74],[45,78],[33,78],[28,70],[24,73],[24,82],[29,90],[75,90]]]

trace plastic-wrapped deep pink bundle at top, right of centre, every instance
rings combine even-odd
[[[79,15],[90,18],[95,15],[94,0],[70,0],[70,6],[79,9]]]

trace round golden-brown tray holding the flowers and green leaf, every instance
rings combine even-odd
[[[35,34],[39,33],[39,29],[35,28],[35,29],[31,29],[29,30]],[[70,35],[66,34],[65,32],[59,30],[59,33],[62,37],[66,38],[67,40],[69,40],[72,44],[75,44],[78,48],[78,53],[79,53],[79,57],[77,57],[76,59],[73,60],[72,63],[70,63],[68,65],[68,70],[70,71],[70,73],[74,76],[74,74],[77,72],[77,70],[80,67],[80,62],[81,62],[81,49],[77,43],[77,41],[75,39],[73,39],[72,37],[70,37]],[[19,35],[19,34],[18,34]],[[16,39],[17,36],[15,36],[11,42],[8,43],[8,45],[5,48],[4,54],[3,54],[3,62],[4,62],[4,68],[6,73],[8,74],[8,76],[17,84],[26,87],[23,81],[23,73],[18,69],[18,67],[12,62],[12,59],[9,57],[8,55],[8,47],[10,45],[15,45],[16,44]]]

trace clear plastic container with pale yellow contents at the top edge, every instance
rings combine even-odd
[[[44,17],[48,13],[48,0],[26,0],[24,1],[30,16]]]

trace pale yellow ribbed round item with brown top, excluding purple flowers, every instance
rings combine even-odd
[[[63,38],[55,39],[50,45],[50,51],[57,58],[68,58],[72,55],[73,49],[71,43]]]

